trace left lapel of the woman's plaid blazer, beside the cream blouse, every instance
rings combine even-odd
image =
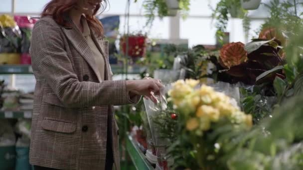
[[[82,33],[78,30],[73,21],[69,18],[65,18],[71,25],[69,28],[62,28],[66,37],[70,40],[75,49],[79,52],[79,54],[85,59],[85,61],[90,65],[93,69],[94,73],[97,75],[99,82],[102,82],[99,70],[96,66],[95,59],[93,58],[92,50],[90,49],[86,39],[82,35]]]

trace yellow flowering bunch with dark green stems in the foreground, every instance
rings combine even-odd
[[[190,139],[199,169],[208,170],[218,168],[216,161],[224,152],[220,150],[223,143],[219,141],[219,134],[248,130],[252,126],[252,116],[242,112],[231,97],[216,91],[222,85],[211,87],[199,83],[196,80],[175,82],[168,99],[179,113],[179,123],[184,124],[180,133]],[[221,91],[232,92],[230,89],[222,87]]]

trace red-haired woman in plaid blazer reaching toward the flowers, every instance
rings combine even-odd
[[[112,105],[151,99],[157,80],[113,81],[95,14],[102,0],[51,0],[32,32],[36,78],[30,163],[35,170],[119,170]]]

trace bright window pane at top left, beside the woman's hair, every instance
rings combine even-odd
[[[16,13],[40,13],[50,0],[15,0]]]

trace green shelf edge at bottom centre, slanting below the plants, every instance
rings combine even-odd
[[[126,149],[137,170],[154,170],[131,135],[127,136]]]

